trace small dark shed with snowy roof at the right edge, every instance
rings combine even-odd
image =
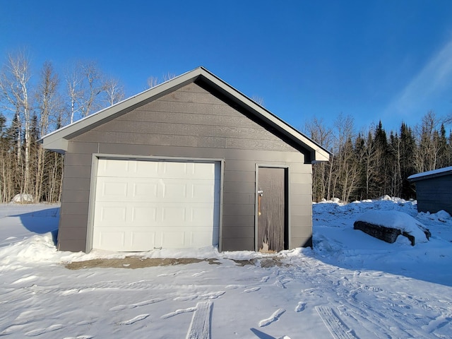
[[[416,184],[417,210],[452,214],[452,166],[412,174],[408,181]]]

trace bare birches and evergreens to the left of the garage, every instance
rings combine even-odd
[[[172,73],[162,81],[174,78]],[[149,77],[153,87],[159,78]],[[16,194],[33,202],[61,198],[63,155],[37,141],[61,126],[124,99],[124,87],[93,61],[76,61],[58,74],[51,62],[33,73],[26,51],[11,53],[0,71],[0,203]]]

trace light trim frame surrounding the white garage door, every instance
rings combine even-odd
[[[91,159],[91,177],[90,177],[90,196],[88,201],[88,225],[86,229],[85,253],[89,253],[93,249],[93,232],[94,232],[94,215],[95,215],[95,198],[97,187],[97,168],[99,160],[136,160],[136,161],[169,161],[169,162],[218,162],[220,165],[220,210],[218,218],[218,251],[221,251],[222,243],[222,213],[223,213],[223,182],[225,160],[210,157],[159,157],[155,155],[121,155],[93,153]]]

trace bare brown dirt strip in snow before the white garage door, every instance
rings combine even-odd
[[[65,267],[70,270],[81,270],[83,268],[145,268],[153,266],[171,266],[171,265],[187,265],[189,263],[200,263],[207,261],[210,264],[220,265],[220,261],[215,258],[196,259],[196,258],[141,258],[128,256],[126,258],[114,259],[92,259],[86,261],[73,261],[66,263]]]

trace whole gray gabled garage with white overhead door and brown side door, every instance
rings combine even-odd
[[[311,246],[330,153],[203,67],[40,141],[65,154],[60,250]]]

